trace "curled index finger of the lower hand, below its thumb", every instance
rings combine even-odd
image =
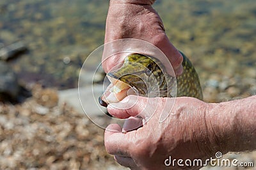
[[[117,124],[109,125],[105,130],[104,144],[109,154],[129,157],[131,139],[129,139],[129,135],[122,133],[121,130],[121,127]]]

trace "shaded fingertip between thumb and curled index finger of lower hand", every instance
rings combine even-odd
[[[129,117],[127,120],[125,120],[122,132],[129,132],[131,130],[135,130],[137,128],[140,128],[143,125],[143,121],[141,118],[134,118]]]

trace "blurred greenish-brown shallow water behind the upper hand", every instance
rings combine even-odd
[[[157,0],[154,7],[203,86],[212,74],[255,79],[255,1]],[[28,54],[10,62],[23,82],[76,87],[84,59],[104,43],[107,12],[104,0],[2,0],[0,46],[16,40],[28,45]]]

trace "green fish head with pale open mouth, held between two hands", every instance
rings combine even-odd
[[[120,68],[107,76],[111,84],[99,98],[100,104],[105,107],[120,102],[127,95],[157,97],[160,96],[160,87],[161,91],[167,91],[159,61],[142,54],[130,54]]]

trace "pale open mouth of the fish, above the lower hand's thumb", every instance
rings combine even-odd
[[[128,95],[137,95],[138,92],[124,81],[120,81],[113,73],[107,75],[111,84],[106,88],[103,95],[99,97],[99,104],[108,107],[108,104],[122,101]]]

